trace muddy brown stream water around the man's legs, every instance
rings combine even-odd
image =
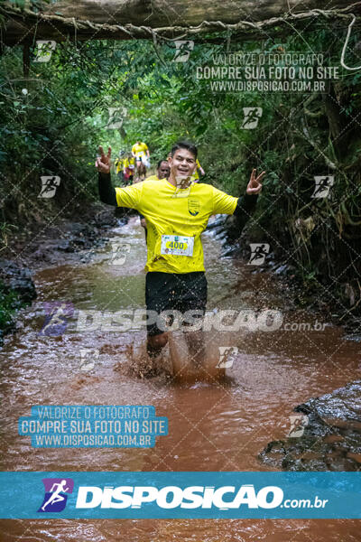
[[[327,324],[323,331],[238,332],[214,335],[238,353],[227,380],[175,383],[162,376],[136,378],[122,368],[144,331],[39,335],[43,303],[70,301],[76,309],[117,311],[144,307],[143,229],[132,219],[112,232],[129,243],[122,266],[110,265],[111,244],[79,263],[42,269],[34,276],[38,299],[21,314],[21,329],[1,352],[2,471],[269,471],[257,458],[290,429],[292,408],[360,378],[359,344]],[[314,325],[312,313],[294,311],[282,285],[254,267],[220,258],[220,244],[204,235],[208,309],[279,309],[283,324]],[[320,322],[320,320],[319,320]],[[304,325],[303,325],[304,327]],[[97,349],[94,369],[80,369],[80,350]],[[218,352],[215,352],[215,355]],[[17,435],[19,416],[32,405],[153,405],[168,416],[169,435],[153,449],[34,449]],[[356,520],[114,519],[1,520],[0,540],[91,542],[223,540],[310,542],[360,540]]]

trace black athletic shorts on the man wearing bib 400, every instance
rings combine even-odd
[[[145,277],[145,304],[148,311],[197,311],[204,315],[207,304],[207,279],[204,271],[193,273],[161,273],[151,271]],[[159,335],[164,329],[151,319],[148,335]]]

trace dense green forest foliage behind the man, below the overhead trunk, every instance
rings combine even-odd
[[[242,51],[323,51],[327,65],[339,66],[343,34],[310,27],[309,34],[293,33],[283,43],[245,42]],[[355,46],[352,38],[349,51]],[[267,172],[251,236],[271,240],[273,250],[297,266],[304,280],[357,280],[359,269],[350,262],[361,216],[361,134],[355,120],[361,72],[340,70],[340,79],[324,95],[216,92],[199,79],[198,70],[225,48],[226,42],[196,43],[189,61],[175,62],[173,42],[58,43],[49,62],[34,62],[32,51],[27,79],[22,50],[5,50],[0,65],[5,220],[14,223],[14,214],[20,222],[39,215],[51,220],[59,210],[74,212],[96,200],[98,144],[111,145],[115,156],[139,137],[155,164],[177,139],[188,138],[199,145],[207,182],[233,195],[245,191],[252,168]],[[106,128],[109,107],[126,109],[118,129]],[[242,126],[243,107],[262,107],[256,129]],[[329,163],[336,169],[329,170]],[[336,178],[331,197],[313,200],[314,175],[330,173]],[[54,201],[37,199],[42,174],[60,175]]]

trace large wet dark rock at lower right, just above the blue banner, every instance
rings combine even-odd
[[[308,416],[299,437],[273,441],[259,458],[286,471],[358,471],[361,464],[361,380],[294,408]]]

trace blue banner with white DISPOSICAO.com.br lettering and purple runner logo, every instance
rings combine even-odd
[[[1,519],[359,519],[359,472],[0,472]]]

